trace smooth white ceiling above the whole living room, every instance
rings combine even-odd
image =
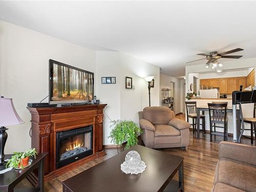
[[[252,1],[1,1],[0,19],[95,50],[120,51],[178,77],[185,62],[203,58],[197,53],[242,48],[237,55],[256,57],[255,8]]]

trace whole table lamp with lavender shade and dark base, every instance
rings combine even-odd
[[[4,165],[4,158],[5,158],[5,143],[7,140],[7,133],[8,130],[5,126],[15,125],[24,123],[22,119],[18,116],[12,99],[10,98],[0,98],[0,166]]]

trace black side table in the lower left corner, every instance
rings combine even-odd
[[[9,170],[4,174],[0,174],[0,191],[1,192],[25,192],[40,191],[44,192],[44,174],[45,174],[45,156],[47,153],[38,153],[36,159],[33,159],[30,166],[24,169]],[[12,155],[6,155],[5,159],[10,159]],[[38,167],[38,187],[37,188],[17,188],[14,187],[28,176],[35,168]]]

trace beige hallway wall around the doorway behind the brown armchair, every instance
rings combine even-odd
[[[175,82],[175,113],[181,113],[181,91],[183,87],[181,86],[181,80],[172,76],[168,76],[160,73],[160,103],[162,102],[162,88],[170,88],[170,82]],[[183,92],[183,91],[182,91]]]

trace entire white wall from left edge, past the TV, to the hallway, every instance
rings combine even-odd
[[[49,59],[94,72],[97,99],[107,103],[111,119],[138,122],[138,111],[148,106],[147,82],[155,76],[152,106],[159,106],[160,68],[120,52],[99,52],[0,20],[0,95],[13,98],[24,124],[8,127],[5,153],[31,147],[28,102],[48,95]],[[101,84],[102,76],[115,76],[116,84]],[[135,90],[125,89],[125,76],[133,77]],[[48,102],[46,100],[45,102]],[[110,120],[104,117],[103,144],[110,144]]]

